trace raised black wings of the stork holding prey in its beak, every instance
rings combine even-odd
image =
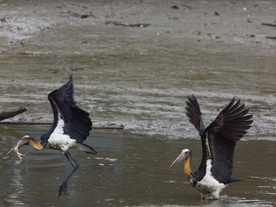
[[[73,98],[73,83],[70,76],[68,83],[61,86],[58,90],[50,92],[48,99],[52,106],[54,121],[48,132],[41,136],[42,141],[47,141],[57,126],[59,119],[63,119],[63,131],[65,135],[82,142],[89,135],[92,129],[92,122],[88,112],[76,106]]]

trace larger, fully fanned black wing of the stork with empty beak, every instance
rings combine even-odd
[[[213,161],[212,175],[224,184],[237,181],[231,177],[235,145],[253,123],[253,115],[246,115],[244,104],[240,105],[240,100],[234,103],[235,98],[204,131],[207,156]]]

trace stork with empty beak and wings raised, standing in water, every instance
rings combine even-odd
[[[236,142],[242,139],[253,123],[253,120],[250,120],[253,115],[247,115],[248,109],[244,109],[244,104],[241,105],[240,100],[235,103],[233,98],[215,121],[205,128],[197,99],[194,96],[188,97],[186,104],[186,115],[201,137],[201,164],[196,172],[192,172],[192,152],[184,149],[170,168],[184,160],[184,172],[188,181],[199,190],[201,197],[211,195],[218,199],[219,193],[227,184],[240,181],[237,177],[231,176],[234,150]]]

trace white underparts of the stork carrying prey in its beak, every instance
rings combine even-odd
[[[64,121],[61,119],[60,114],[58,115],[59,119],[57,121],[57,126],[55,130],[50,135],[48,142],[52,146],[59,146],[61,150],[66,151],[72,146],[76,145],[76,140],[71,139],[68,135],[64,135]]]

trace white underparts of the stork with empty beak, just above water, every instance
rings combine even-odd
[[[214,199],[218,199],[219,193],[221,193],[221,190],[224,189],[226,185],[219,183],[219,181],[213,177],[211,168],[211,160],[208,159],[206,161],[206,175],[201,181],[197,182],[195,187],[200,193],[204,195],[210,194]]]

